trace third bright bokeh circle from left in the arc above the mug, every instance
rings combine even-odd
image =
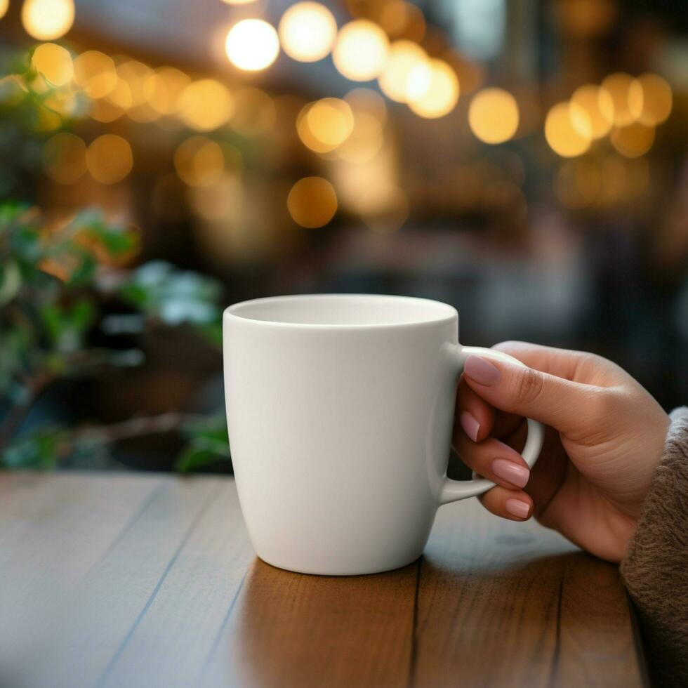
[[[370,81],[385,68],[389,48],[387,35],[378,25],[356,19],[340,29],[332,60],[347,79]]]

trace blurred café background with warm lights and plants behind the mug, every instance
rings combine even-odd
[[[688,401],[684,0],[0,0],[0,460],[231,470],[219,314],[371,292]]]

